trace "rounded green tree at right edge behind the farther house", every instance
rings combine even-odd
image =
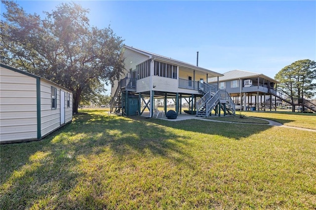
[[[316,62],[299,60],[277,72],[279,87],[291,99],[312,98],[316,95]],[[313,81],[314,80],[314,81]]]

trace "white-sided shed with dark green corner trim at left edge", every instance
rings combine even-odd
[[[72,117],[72,91],[0,64],[0,143],[40,140]]]

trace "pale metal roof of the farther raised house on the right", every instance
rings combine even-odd
[[[229,80],[234,80],[234,79],[248,79],[248,78],[253,78],[253,77],[261,77],[266,80],[279,83],[277,80],[266,76],[262,73],[256,73],[256,72],[251,72],[251,71],[245,71],[245,70],[231,70],[226,73],[224,73],[224,76],[219,77],[219,81],[229,81]],[[215,78],[210,78],[208,82],[217,82],[217,79]]]

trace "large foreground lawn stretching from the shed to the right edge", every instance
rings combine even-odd
[[[0,145],[0,209],[316,208],[315,132],[83,111]]]

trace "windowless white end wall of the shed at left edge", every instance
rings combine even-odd
[[[0,77],[0,141],[36,139],[36,78],[2,67]]]

